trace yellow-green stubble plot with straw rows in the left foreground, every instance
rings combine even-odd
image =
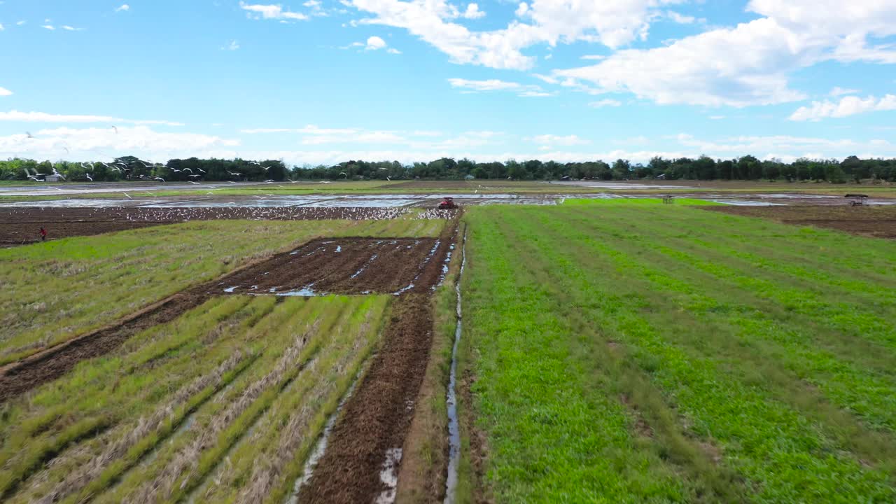
[[[280,397],[314,419],[294,429],[312,442],[375,343],[388,298],[281,301],[214,298],[4,404],[4,500],[177,500]]]

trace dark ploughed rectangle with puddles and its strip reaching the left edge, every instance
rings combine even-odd
[[[435,239],[338,239],[343,252],[335,253],[337,241],[323,244],[324,241],[331,240],[314,240],[297,248],[295,255],[285,252],[243,266],[220,279],[180,291],[114,326],[78,336],[22,361],[8,364],[0,369],[0,403],[62,376],[82,360],[111,352],[131,336],[151,326],[168,323],[211,297],[224,294],[223,286],[251,287],[255,285],[253,282],[258,282],[256,291],[266,293],[273,287],[301,289],[308,283],[314,283],[328,292],[392,293],[416,279],[415,287],[408,292],[428,293],[439,281],[438,268],[442,267],[449,247],[445,240],[439,240],[439,247],[430,256]],[[324,253],[323,248],[327,248],[328,252]],[[369,263],[370,257],[377,251],[386,260],[380,263],[377,258],[369,264],[369,271],[365,270],[354,279],[349,278]],[[236,291],[240,292],[250,291],[247,288]],[[429,326],[426,326],[427,330]],[[426,360],[423,362],[425,366]]]

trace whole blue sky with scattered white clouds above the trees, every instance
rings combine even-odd
[[[892,0],[5,0],[0,158],[896,157]]]

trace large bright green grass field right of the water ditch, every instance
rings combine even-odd
[[[680,205],[466,219],[478,492],[896,500],[892,241]]]

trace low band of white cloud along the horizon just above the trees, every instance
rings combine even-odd
[[[273,129],[273,128],[272,128]],[[346,136],[344,142],[334,144],[334,148],[313,150],[281,150],[264,151],[246,148],[237,138],[224,138],[214,135],[197,135],[189,133],[160,133],[149,126],[120,126],[116,133],[111,128],[55,128],[36,132],[33,138],[25,134],[0,136],[0,158],[22,156],[36,159],[60,159],[88,161],[105,159],[117,155],[133,154],[145,160],[165,161],[172,158],[197,156],[201,158],[231,159],[282,159],[292,164],[325,163],[347,161],[351,159],[401,161],[430,161],[441,157],[454,159],[469,158],[474,161],[506,161],[508,159],[559,162],[572,161],[611,161],[619,158],[633,162],[647,162],[654,156],[667,159],[691,157],[701,154],[713,158],[732,158],[752,153],[760,159],[779,158],[782,161],[794,161],[799,157],[839,158],[856,154],[863,158],[892,157],[896,155],[896,144],[882,139],[856,142],[849,139],[829,140],[824,138],[794,136],[735,136],[720,140],[702,140],[692,135],[673,135],[673,143],[667,148],[653,150],[607,150],[570,152],[562,150],[561,143],[576,142],[574,135],[543,135],[553,143],[535,143],[539,145],[534,152],[510,151],[501,148],[506,135],[493,131],[468,131],[452,135],[442,140],[420,142],[410,138],[420,132],[407,135],[401,132],[375,132],[355,128],[319,128],[306,126],[289,131],[307,130],[321,135],[327,132],[351,131],[353,134],[366,135],[379,144],[379,138],[394,135],[393,148],[365,148],[356,142],[356,138]],[[423,132],[427,133],[427,132]],[[434,134],[435,135],[435,134]],[[398,138],[407,136],[403,142]],[[558,140],[565,139],[565,140]],[[582,140],[582,139],[579,139]],[[625,140],[623,143],[643,144],[641,140]],[[306,145],[323,145],[327,142],[307,143]],[[677,146],[676,146],[677,145]],[[547,148],[546,148],[547,147]]]

